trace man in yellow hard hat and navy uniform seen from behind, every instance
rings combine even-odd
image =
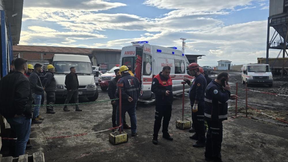
[[[131,136],[137,135],[137,119],[136,119],[136,103],[140,96],[141,85],[136,77],[132,77],[128,72],[128,67],[123,65],[120,67],[122,78],[118,80],[118,83],[123,83],[121,88],[121,94],[119,94],[119,87],[117,86],[116,98],[121,95],[122,99],[122,110],[121,119],[123,123],[123,117],[128,112],[131,122]],[[116,122],[119,125],[119,104],[116,112]],[[123,126],[121,127],[123,129]]]

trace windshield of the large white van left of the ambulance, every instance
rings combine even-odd
[[[54,61],[53,66],[56,74],[70,73],[70,67],[75,67],[76,73],[93,74],[90,62]]]

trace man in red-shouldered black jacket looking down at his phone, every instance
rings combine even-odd
[[[173,140],[168,133],[173,103],[172,80],[169,76],[170,72],[170,66],[164,66],[162,71],[153,78],[151,85],[151,91],[155,94],[156,100],[153,144],[158,144],[158,132],[161,127],[162,117],[162,137],[170,141]]]

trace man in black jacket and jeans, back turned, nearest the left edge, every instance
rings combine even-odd
[[[32,94],[27,73],[27,60],[14,61],[15,72],[0,80],[0,113],[16,133],[17,141],[14,157],[25,154],[29,139],[32,117]],[[20,123],[20,124],[19,124]]]

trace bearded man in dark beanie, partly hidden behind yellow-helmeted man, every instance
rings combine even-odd
[[[120,69],[115,69],[114,72],[115,72],[116,77],[114,79],[112,79],[108,85],[108,96],[109,96],[110,100],[115,99],[117,82],[121,78]],[[113,110],[112,110],[112,127],[116,127],[117,126],[116,125],[117,102],[114,100],[114,101],[111,101],[111,104],[112,104],[112,108],[113,108]],[[123,127],[124,127],[124,129],[131,129],[131,126],[127,125],[127,123],[126,123],[125,114],[123,117]]]

